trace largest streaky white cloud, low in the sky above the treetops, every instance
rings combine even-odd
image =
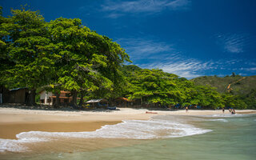
[[[142,68],[158,68],[180,77],[196,78],[203,75],[255,72],[254,60],[226,58],[206,60],[191,58],[178,50],[175,44],[162,42],[158,38],[120,38],[117,42],[126,49],[134,65]],[[247,64],[248,63],[248,64]],[[247,67],[241,68],[247,64]]]

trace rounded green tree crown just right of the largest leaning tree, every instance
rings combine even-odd
[[[129,98],[140,98],[142,104],[176,104],[183,96],[178,90],[178,76],[162,70],[134,70],[126,78],[128,82],[126,95]]]

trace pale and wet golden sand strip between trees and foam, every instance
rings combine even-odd
[[[237,110],[238,114],[256,114],[256,110]],[[222,110],[159,111],[118,108],[104,111],[22,110],[0,108],[0,138],[15,139],[16,134],[27,131],[78,132],[94,131],[122,120],[147,120],[155,115],[212,115]],[[225,114],[229,114],[226,110]]]

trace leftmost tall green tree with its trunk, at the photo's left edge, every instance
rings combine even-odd
[[[2,23],[4,39],[8,42],[7,57],[14,67],[6,70],[6,80],[14,85],[30,89],[26,105],[35,104],[35,91],[49,82],[51,65],[54,63],[48,52],[50,40],[46,37],[46,22],[38,11],[11,10],[13,16]]]

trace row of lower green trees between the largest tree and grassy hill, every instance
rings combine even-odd
[[[127,70],[134,66],[125,66],[127,75],[126,96],[141,98],[144,104],[158,103],[162,106],[180,104],[182,106],[200,105],[210,108],[223,106],[221,95],[210,86],[194,86],[186,78],[178,78],[162,70]]]

